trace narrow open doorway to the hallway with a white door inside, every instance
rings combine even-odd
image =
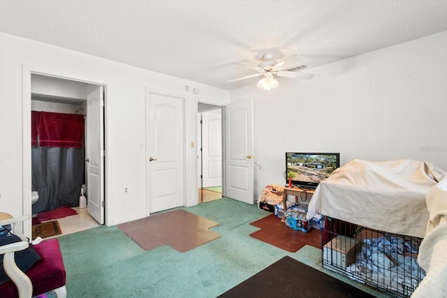
[[[198,202],[222,198],[222,108],[198,103]]]

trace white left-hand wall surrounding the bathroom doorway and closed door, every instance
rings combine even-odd
[[[22,170],[27,163],[27,152],[22,152],[27,137],[22,137],[22,124],[29,123],[27,115],[22,117],[22,105],[26,107],[26,103],[22,103],[22,68],[25,74],[35,70],[105,84],[105,218],[108,225],[146,216],[145,151],[139,149],[139,144],[145,143],[145,88],[185,94],[186,171],[190,173],[186,174],[186,204],[197,202],[197,151],[190,146],[191,142],[196,142],[197,100],[225,105],[229,102],[228,91],[6,33],[0,33],[0,65],[1,211],[21,215],[27,209],[22,205],[22,192],[25,190],[24,195],[28,195],[31,191],[25,189],[31,181],[22,181],[22,177],[27,180],[31,177]],[[25,77],[23,84],[29,84],[27,80],[31,81],[31,75]],[[186,93],[186,84],[191,89],[200,88],[200,95]],[[122,195],[124,185],[129,188],[128,195]]]

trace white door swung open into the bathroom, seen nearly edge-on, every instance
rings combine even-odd
[[[89,85],[86,117],[87,211],[104,223],[104,88]]]

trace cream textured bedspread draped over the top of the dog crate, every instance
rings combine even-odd
[[[425,237],[425,197],[447,174],[423,161],[353,160],[321,182],[307,218],[323,214],[368,228]]]

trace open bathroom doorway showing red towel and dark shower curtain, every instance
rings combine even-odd
[[[104,175],[96,175],[100,177],[101,182],[91,182],[91,170],[89,170],[90,163],[98,161],[102,167],[104,164],[103,157],[95,158],[93,154],[89,154],[92,151],[91,147],[94,147],[94,151],[98,151],[99,154],[102,152],[99,147],[103,147],[104,135],[103,102],[100,100],[104,95],[103,86],[31,73],[30,91],[33,227],[52,221],[53,218],[49,215],[52,213],[57,214],[55,216],[62,234],[103,224],[104,209],[100,206],[96,211],[94,208],[96,200],[92,199],[103,200]],[[45,135],[52,135],[54,140],[59,140],[57,137],[61,136],[57,144],[42,142],[43,116],[52,121],[52,125],[45,126]],[[35,117],[38,119],[37,123]],[[61,129],[68,126],[70,129]],[[55,128],[59,128],[59,131],[54,130]],[[74,133],[75,130],[81,131],[78,133],[81,139],[77,143],[82,144],[68,146],[65,136],[61,133],[64,134],[64,131]],[[89,160],[93,163],[89,163]],[[80,204],[81,197],[87,197],[84,204]],[[66,212],[65,207],[75,210],[76,214],[71,215],[73,212],[70,211],[67,212],[69,216],[58,218],[61,216],[59,213]],[[38,216],[39,214],[43,216]]]

